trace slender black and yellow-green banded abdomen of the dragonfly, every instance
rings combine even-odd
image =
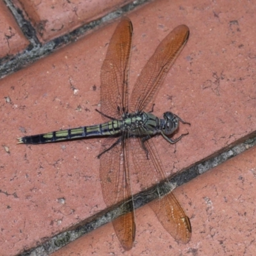
[[[18,143],[24,144],[42,144],[61,140],[72,140],[76,138],[85,138],[92,136],[108,136],[120,132],[120,122],[118,120],[109,121],[104,124],[78,127],[62,131],[54,131],[43,134],[36,134],[18,138]]]

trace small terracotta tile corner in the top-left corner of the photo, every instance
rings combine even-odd
[[[0,31],[0,58],[6,55],[15,55],[29,45],[3,1],[0,1]]]

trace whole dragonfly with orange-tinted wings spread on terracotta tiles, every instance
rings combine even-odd
[[[180,51],[189,38],[186,25],[177,26],[159,44],[141,71],[129,99],[129,66],[132,49],[132,22],[123,17],[108,45],[106,58],[100,71],[100,115],[104,123],[75,129],[36,134],[18,138],[18,143],[41,144],[55,141],[103,136],[100,159],[100,184],[104,202],[108,207],[126,202],[126,212],[113,220],[116,236],[125,250],[130,250],[135,237],[134,201],[131,186],[132,170],[138,173],[141,186],[164,182],[167,195],[150,202],[150,207],[163,227],[181,243],[191,238],[191,225],[179,202],[168,186],[168,177],[152,137],[161,135],[169,143],[180,122],[189,124],[167,111],[163,118],[155,116],[154,101]],[[97,110],[97,109],[96,109]],[[187,133],[188,134],[188,133]],[[132,162],[129,160],[132,157]],[[125,207],[124,207],[125,208]]]

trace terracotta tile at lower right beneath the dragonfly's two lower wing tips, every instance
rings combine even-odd
[[[192,237],[178,244],[148,206],[136,211],[136,242],[129,252],[110,224],[63,247],[58,255],[254,255],[256,147],[175,190],[191,219]]]

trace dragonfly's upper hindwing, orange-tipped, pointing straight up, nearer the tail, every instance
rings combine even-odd
[[[116,119],[127,113],[131,45],[132,23],[124,17],[109,42],[100,72],[100,109],[104,115]]]

